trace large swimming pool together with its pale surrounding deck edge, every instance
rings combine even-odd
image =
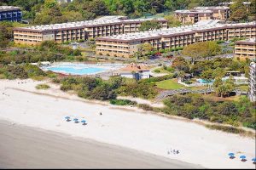
[[[60,64],[43,67],[44,71],[54,71],[57,73],[71,75],[93,75],[96,73],[116,70],[116,66],[107,65],[85,65],[85,64]]]

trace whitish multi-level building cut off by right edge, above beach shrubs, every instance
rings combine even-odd
[[[248,97],[252,102],[256,101],[256,63],[250,64],[250,79],[249,79]]]

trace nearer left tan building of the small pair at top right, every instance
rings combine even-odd
[[[212,20],[212,10],[176,10],[175,16],[177,20],[180,20],[183,24],[191,23],[195,24],[200,20]]]

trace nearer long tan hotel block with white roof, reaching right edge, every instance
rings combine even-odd
[[[148,42],[155,49],[183,47],[195,42],[231,40],[234,37],[256,37],[256,22],[226,24],[205,20],[192,26],[179,26],[117,36],[97,37],[96,54],[129,57],[139,44]]]

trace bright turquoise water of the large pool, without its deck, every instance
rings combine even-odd
[[[90,75],[96,74],[102,71],[108,71],[107,68],[102,68],[99,66],[87,66],[87,65],[58,65],[45,67],[45,70],[61,72],[65,74],[72,75]]]

